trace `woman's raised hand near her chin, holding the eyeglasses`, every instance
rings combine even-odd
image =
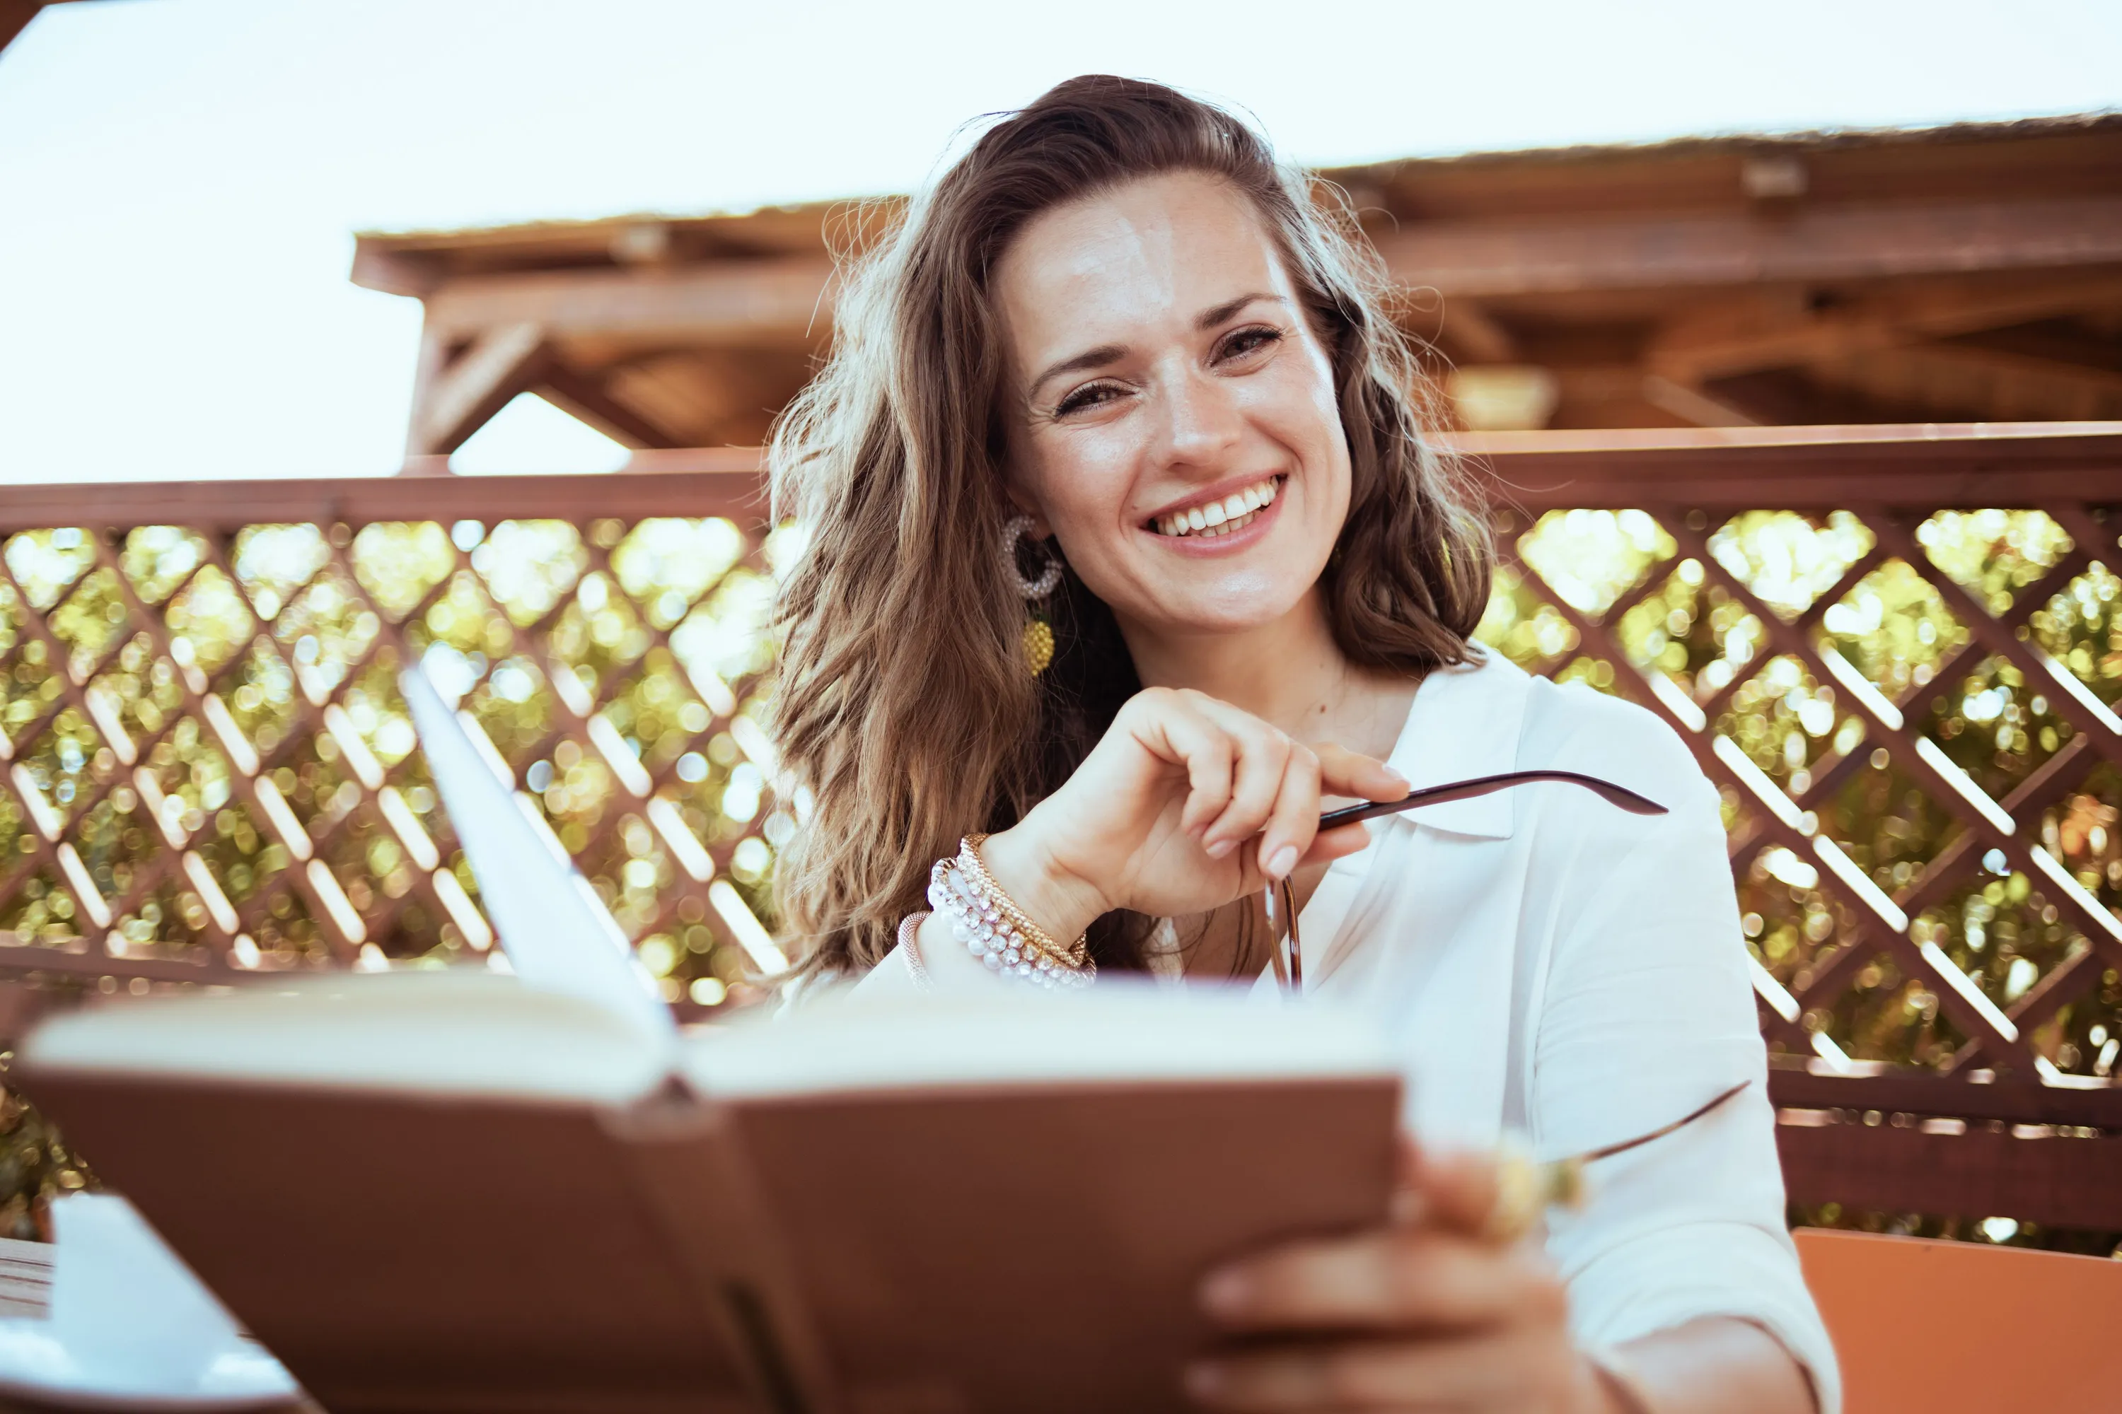
[[[1354,854],[1362,825],[1320,833],[1320,795],[1398,799],[1407,780],[1339,746],[1303,746],[1229,702],[1150,687],[1127,700],[1067,784],[980,846],[995,882],[1067,943],[1112,909],[1203,914],[1305,865]]]

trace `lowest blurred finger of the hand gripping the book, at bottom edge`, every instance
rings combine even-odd
[[[1555,1348],[1549,1348],[1555,1346]],[[1239,1350],[1186,1367],[1216,1410],[1464,1410],[1568,1389],[1568,1346],[1519,1333],[1471,1340],[1335,1340]]]

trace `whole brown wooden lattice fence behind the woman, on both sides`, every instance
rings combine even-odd
[[[1485,452],[1483,638],[1725,793],[1793,1196],[2122,1230],[2122,428]],[[690,460],[0,490],[0,971],[475,962],[420,655],[673,1005],[743,998],[796,829],[755,706],[798,532],[747,458]]]

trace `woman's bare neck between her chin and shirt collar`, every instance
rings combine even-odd
[[[1243,708],[1299,742],[1384,759],[1401,736],[1415,678],[1350,664],[1314,589],[1290,613],[1235,634],[1120,625],[1144,687],[1190,687]]]

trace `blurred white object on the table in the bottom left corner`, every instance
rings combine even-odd
[[[0,1393],[72,1410],[272,1410],[301,1397],[129,1202],[68,1194],[51,1221],[51,1308],[0,1319]]]

